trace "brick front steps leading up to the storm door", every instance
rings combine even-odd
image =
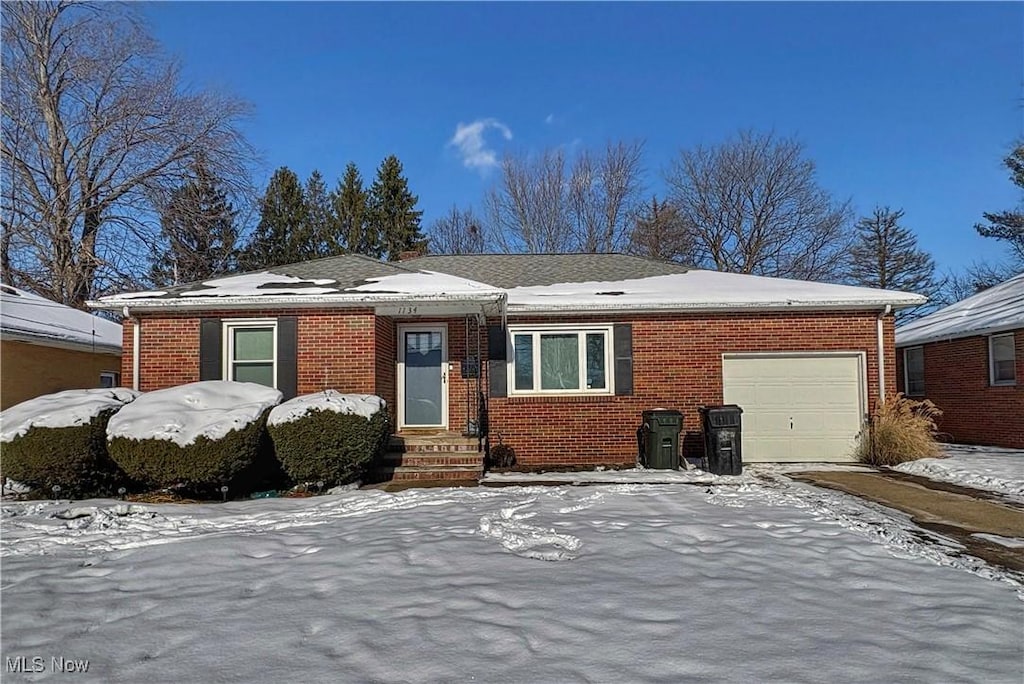
[[[391,437],[378,480],[467,481],[483,475],[476,437],[458,433],[399,433]]]

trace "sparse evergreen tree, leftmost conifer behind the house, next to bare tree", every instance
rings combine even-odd
[[[163,288],[231,271],[238,256],[237,215],[204,159],[197,158],[191,179],[161,208],[161,252],[150,269],[153,284]]]

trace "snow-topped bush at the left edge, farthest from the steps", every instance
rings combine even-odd
[[[3,477],[41,496],[111,494],[125,474],[106,453],[106,424],[138,392],[69,389],[23,401],[0,414]]]

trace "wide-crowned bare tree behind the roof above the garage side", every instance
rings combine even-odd
[[[803,145],[741,132],[680,153],[665,174],[670,203],[693,240],[694,265],[737,273],[829,281],[851,242],[849,203],[815,178]]]

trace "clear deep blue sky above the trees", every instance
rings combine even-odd
[[[941,269],[998,258],[1021,202],[1022,3],[147,4],[186,78],[255,105],[265,168],[369,183],[389,154],[424,223],[479,207],[503,149],[645,140],[648,194],[682,147],[795,135],[859,213],[901,207]],[[490,121],[490,125],[479,122]],[[453,143],[460,124],[460,147]],[[479,130],[477,130],[479,129]],[[482,146],[481,146],[482,145]]]

